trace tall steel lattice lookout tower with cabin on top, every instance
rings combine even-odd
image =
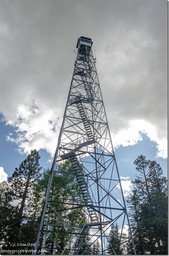
[[[92,43],[83,36],[77,43],[75,68],[36,237],[35,250],[47,250],[42,254],[96,254],[96,241],[99,253],[108,254],[110,226],[116,222],[121,228],[118,237],[114,235],[116,248],[130,240],[134,248]],[[51,192],[54,186],[59,186],[59,193]],[[122,234],[126,224],[127,237]],[[114,248],[114,254],[118,254]]]

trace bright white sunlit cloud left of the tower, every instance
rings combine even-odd
[[[60,120],[52,109],[40,108],[19,105],[14,121],[8,121],[16,128],[16,137],[10,133],[7,140],[16,143],[20,153],[28,154],[31,149],[46,149],[50,154],[55,151]]]

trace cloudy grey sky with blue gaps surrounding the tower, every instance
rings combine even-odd
[[[80,36],[93,41],[115,149],[167,158],[167,13],[167,0],[0,1],[0,170],[54,153]]]

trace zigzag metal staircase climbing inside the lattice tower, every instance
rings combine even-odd
[[[81,75],[83,77],[86,76],[84,74],[84,72],[79,71],[79,70],[76,71],[76,74]],[[93,101],[93,94],[92,94],[91,88],[89,87],[87,82],[84,82],[84,88],[85,88],[85,91],[86,91],[86,97],[85,98],[82,97],[81,95],[79,95],[75,98],[72,98],[71,101],[69,101],[71,104],[76,104],[76,106],[79,110],[79,114],[80,114],[80,117],[82,119],[82,122],[84,124],[84,128],[85,128],[87,137],[88,137],[86,142],[79,144],[74,149],[74,151],[73,151],[74,153],[76,151],[80,150],[82,147],[93,144],[93,143],[96,142],[93,138],[93,133],[92,133],[92,130],[90,128],[90,123],[87,120],[85,110],[84,110],[84,106],[82,104],[82,102],[91,103]],[[93,209],[90,208],[90,205],[92,205],[93,201],[92,201],[92,199],[90,197],[90,194],[89,194],[89,191],[88,191],[88,186],[87,186],[87,183],[86,183],[85,178],[84,178],[83,169],[80,166],[80,163],[79,163],[79,161],[76,157],[76,154],[71,156],[71,153],[72,152],[69,153],[70,154],[69,159],[72,163],[72,167],[74,169],[76,179],[78,181],[78,184],[79,184],[79,187],[80,187],[80,190],[81,190],[81,193],[82,193],[82,196],[83,196],[86,208],[87,208],[87,213],[86,214],[90,218],[89,222],[90,223],[98,223],[99,222],[98,214],[96,213],[96,211],[94,211]],[[69,255],[79,254],[81,248],[85,244],[85,239],[86,239],[87,234],[89,233],[89,230],[90,230],[90,225],[85,224],[83,226],[82,230],[81,230],[81,234],[79,235],[79,237],[76,238],[76,241],[75,241],[74,245],[72,246],[72,250],[70,251]]]

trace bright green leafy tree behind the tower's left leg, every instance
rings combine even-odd
[[[42,208],[50,174],[51,172],[49,169],[44,169],[42,177],[34,184],[34,206],[36,205],[38,207],[41,205]],[[66,232],[76,230],[76,225],[79,224],[80,220],[81,224],[86,223],[85,211],[83,208],[76,209],[72,208],[71,205],[69,207],[69,203],[83,201],[79,184],[69,160],[59,163],[53,173],[49,198],[51,203],[50,206],[47,206],[46,212],[49,212],[50,214],[46,219],[48,222],[46,230],[51,230],[53,233],[50,235],[47,233],[47,235],[42,238],[42,243],[47,247],[54,248],[50,249],[47,254],[61,254],[65,246],[70,247],[70,244],[67,245],[70,235],[66,234]],[[41,212],[39,208],[37,208],[36,211],[39,213]],[[67,225],[64,225],[62,220],[64,220]],[[69,228],[68,225],[70,225],[71,228]],[[57,233],[54,233],[55,231],[57,231]],[[79,228],[79,232],[80,231],[81,228]],[[65,234],[63,234],[63,232],[65,232]]]

